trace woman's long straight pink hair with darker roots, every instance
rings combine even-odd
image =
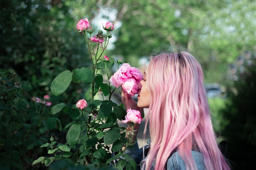
[[[146,170],[154,161],[155,170],[164,170],[175,150],[187,170],[196,170],[193,146],[202,153],[207,170],[229,170],[216,142],[202,67],[195,58],[188,52],[159,54],[150,60],[146,80],[151,94]]]

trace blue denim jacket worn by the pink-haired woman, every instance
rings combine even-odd
[[[145,148],[147,147],[148,146],[145,146]],[[137,143],[134,146],[128,147],[128,149],[126,150],[126,153],[128,153],[133,159],[135,159],[137,165],[141,164],[141,161],[143,159],[143,148],[139,149],[139,146]],[[195,150],[191,150],[191,153],[197,169],[206,170],[202,154]],[[153,163],[153,166],[154,166],[154,163]],[[137,166],[137,170],[141,170],[141,167]],[[151,168],[151,170],[154,170],[154,167]],[[186,170],[186,164],[183,161],[183,159],[180,157],[179,151],[174,152],[169,157],[166,163],[166,170]]]

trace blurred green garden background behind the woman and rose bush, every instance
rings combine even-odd
[[[84,18],[96,30],[113,22],[106,55],[141,71],[152,52],[170,45],[188,49],[203,66],[214,128],[218,142],[227,141],[232,169],[253,169],[255,9],[255,0],[1,0],[0,74],[11,79],[16,73],[12,82],[18,88],[11,90],[0,80],[0,169],[47,169],[31,165],[46,154],[39,146],[51,135],[65,142],[69,116],[51,115],[47,107],[45,121],[38,124],[31,97],[48,94],[53,106],[83,98],[85,84],[73,83],[58,97],[50,85],[62,71],[90,65],[84,37],[76,29]]]

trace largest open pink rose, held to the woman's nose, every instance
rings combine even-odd
[[[130,64],[124,63],[117,72],[110,77],[109,82],[115,87],[122,86],[126,93],[134,96],[138,93],[137,83],[140,82],[142,78],[143,75],[138,68],[131,67]]]

